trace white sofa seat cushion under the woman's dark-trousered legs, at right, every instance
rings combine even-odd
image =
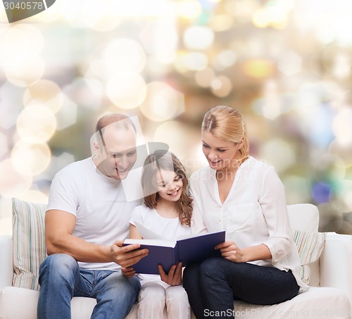
[[[272,306],[235,302],[236,319],[349,319],[348,298],[339,289],[329,287],[310,287],[307,292],[298,294],[289,301]]]

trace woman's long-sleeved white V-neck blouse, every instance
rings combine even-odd
[[[194,196],[192,232],[225,230],[226,240],[239,248],[265,244],[272,258],[251,263],[291,270],[298,285],[308,287],[298,275],[300,260],[291,239],[284,185],[275,169],[250,156],[239,166],[224,203],[215,173],[207,166],[189,180]]]

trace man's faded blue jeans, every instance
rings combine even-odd
[[[47,257],[39,270],[38,319],[70,319],[71,299],[96,299],[94,319],[125,318],[137,300],[141,284],[120,271],[87,270],[66,254]]]

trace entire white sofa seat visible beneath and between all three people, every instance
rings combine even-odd
[[[0,291],[0,318],[37,319],[38,297],[39,292],[30,289],[18,287],[2,289]],[[71,301],[72,319],[89,319],[95,304],[96,300],[92,298],[73,297]],[[294,299],[273,306],[259,306],[235,301],[234,311],[237,319],[350,318],[347,297],[338,289],[328,287],[310,287],[307,292],[298,294]],[[137,305],[133,306],[126,319],[132,318],[137,318]],[[164,318],[166,318],[166,313],[164,313]]]

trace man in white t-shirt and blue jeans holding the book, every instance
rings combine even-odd
[[[125,318],[140,289],[128,268],[148,254],[139,244],[122,246],[139,201],[127,202],[122,188],[137,158],[136,129],[121,114],[96,124],[94,156],[56,174],[45,216],[46,251],[39,271],[38,318],[70,318],[73,296],[97,301],[92,318]],[[137,250],[136,250],[137,249]]]

